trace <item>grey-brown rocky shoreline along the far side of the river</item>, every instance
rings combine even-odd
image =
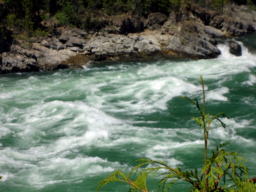
[[[160,12],[148,18],[102,15],[100,32],[55,27],[52,34],[32,38],[32,42],[17,40],[9,52],[0,54],[0,74],[79,68],[86,61],[148,55],[216,58],[221,54],[216,38],[254,32],[255,16],[256,12],[249,12],[247,6],[228,5],[220,14],[195,4],[168,17]],[[239,47],[234,43],[230,46],[239,56]]]

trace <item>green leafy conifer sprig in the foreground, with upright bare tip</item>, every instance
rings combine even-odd
[[[183,99],[189,99],[189,101],[198,108],[201,115],[200,117],[192,117],[204,130],[204,166],[200,176],[198,177],[198,169],[196,168],[195,170],[182,171],[179,167],[169,167],[162,160],[140,159],[138,161],[141,161],[141,163],[135,166],[128,175],[118,169],[109,177],[97,183],[97,185],[99,185],[96,189],[97,192],[102,188],[102,186],[113,181],[128,183],[131,186],[131,192],[134,190],[136,192],[148,192],[148,188],[146,186],[148,175],[151,174],[151,177],[153,177],[160,169],[164,169],[165,172],[158,175],[161,176],[160,181],[157,183],[157,191],[159,192],[167,192],[172,184],[178,180],[184,180],[191,183],[192,192],[256,192],[256,178],[248,179],[248,169],[242,163],[242,161],[246,161],[245,158],[235,151],[227,152],[223,149],[225,145],[230,143],[222,143],[220,146],[216,146],[216,150],[212,150],[212,155],[207,158],[207,141],[211,122],[216,119],[221,123],[222,127],[225,128],[226,125],[221,121],[221,119],[219,119],[219,116],[227,119],[229,118],[225,113],[219,113],[215,116],[205,114],[204,81],[202,76],[200,76],[200,79],[203,89],[203,110],[201,110],[197,99],[193,101],[188,97],[181,97]],[[153,168],[142,168],[135,180],[132,181],[130,179],[132,173],[135,173],[136,175],[141,166],[150,163],[154,164]],[[119,175],[121,177],[118,177]],[[227,177],[232,181],[233,186],[227,186]],[[220,183],[221,180],[223,181],[222,183]]]

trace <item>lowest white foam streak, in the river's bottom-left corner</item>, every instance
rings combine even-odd
[[[114,169],[120,166],[117,162],[112,163],[108,162],[107,159],[81,156],[81,154],[78,154],[74,159],[64,158],[64,156],[72,154],[72,151],[65,151],[59,157],[51,157],[50,154],[45,154],[46,158],[38,157],[36,153],[24,154],[24,152],[28,153],[29,150],[14,151],[12,148],[5,148],[0,151],[0,166],[6,164],[9,165],[9,169],[18,170],[13,175],[2,172],[3,181],[10,177],[12,182],[17,182],[19,175],[25,174],[26,177],[23,177],[23,183],[42,188],[64,180],[68,182],[78,180],[84,178],[85,175],[92,176],[99,173],[113,172]],[[43,152],[46,153],[47,151],[44,150]]]

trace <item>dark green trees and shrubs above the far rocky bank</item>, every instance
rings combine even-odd
[[[188,3],[197,3],[207,9],[221,12],[224,4],[248,4],[254,9],[253,0],[0,0],[1,26],[12,31],[25,31],[33,35],[34,31],[43,29],[42,20],[53,17],[58,19],[58,25],[92,28],[97,26],[97,19],[91,15],[99,12],[108,15],[118,15],[132,12],[147,17],[154,12],[168,14],[172,10],[186,7]],[[48,29],[47,29],[48,30]]]

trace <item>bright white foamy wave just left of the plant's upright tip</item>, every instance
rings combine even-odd
[[[108,110],[128,114],[154,113],[167,109],[167,102],[183,92],[196,92],[200,86],[187,83],[173,76],[162,77],[146,81],[136,81],[120,87],[117,93],[104,96],[105,100],[113,98],[116,103],[108,105]],[[124,101],[122,98],[129,96],[131,99]],[[113,108],[113,106],[115,108]],[[120,108],[122,106],[122,108]],[[106,109],[106,107],[105,107]]]

